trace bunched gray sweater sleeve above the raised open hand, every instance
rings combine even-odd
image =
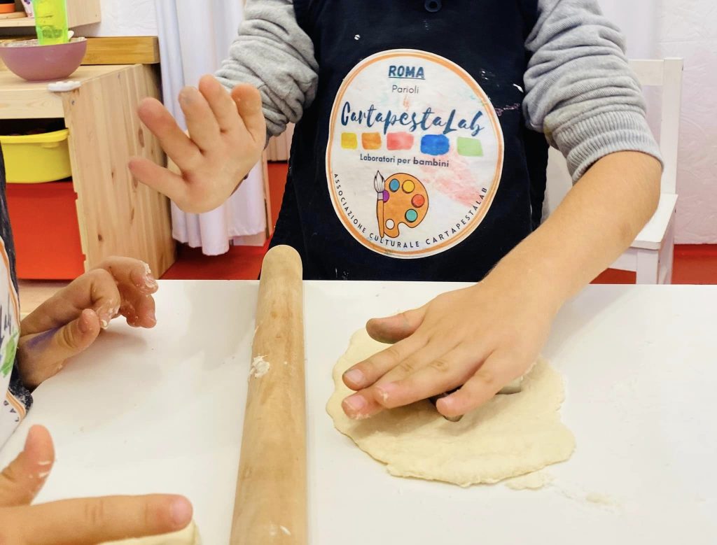
[[[249,83],[260,90],[267,132],[276,136],[313,102],[317,72],[313,43],[296,21],[293,2],[248,0],[239,36],[216,75],[229,89]]]

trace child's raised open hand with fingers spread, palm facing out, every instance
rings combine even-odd
[[[179,104],[189,137],[158,100],[143,100],[139,116],[180,173],[145,158],[133,158],[130,170],[185,212],[208,212],[232,196],[262,157],[267,138],[262,99],[251,85],[237,85],[229,95],[217,79],[204,76],[199,90],[181,90]]]

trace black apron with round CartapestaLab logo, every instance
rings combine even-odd
[[[318,92],[272,246],[305,279],[482,279],[540,222],[548,148],[521,108],[537,0],[294,6]]]

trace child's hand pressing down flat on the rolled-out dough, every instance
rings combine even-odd
[[[460,390],[437,402],[447,417],[464,415],[521,377],[535,362],[556,309],[521,289],[483,281],[437,296],[419,309],[371,320],[366,329],[396,343],[351,367],[343,401],[351,418]]]

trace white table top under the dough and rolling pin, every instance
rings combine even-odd
[[[577,449],[540,491],[391,477],[326,415],[350,335],[445,289],[305,284],[311,544],[714,543],[717,287],[590,286],[566,306],[544,355]],[[57,466],[39,501],[184,493],[205,543],[227,544],[256,297],[256,282],[163,281],[158,327],[115,324],[44,383],[0,463],[42,423]]]

